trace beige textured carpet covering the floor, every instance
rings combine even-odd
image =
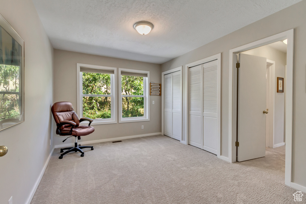
[[[55,149],[31,203],[295,203],[285,146],[236,163],[164,135],[93,146],[63,159]]]

